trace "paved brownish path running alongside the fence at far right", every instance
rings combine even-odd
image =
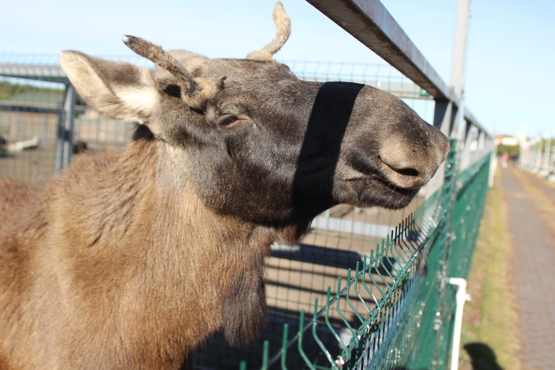
[[[555,369],[555,190],[523,170],[503,170],[524,369]]]

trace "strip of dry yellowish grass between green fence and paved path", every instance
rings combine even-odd
[[[517,357],[517,311],[511,281],[512,246],[507,230],[507,202],[499,186],[488,195],[483,224],[468,277],[472,301],[465,305],[461,369],[521,368]]]

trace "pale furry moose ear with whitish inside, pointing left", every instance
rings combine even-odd
[[[110,118],[144,122],[158,102],[150,69],[73,50],[60,54],[60,64],[85,102]]]

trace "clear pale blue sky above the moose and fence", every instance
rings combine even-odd
[[[383,0],[448,83],[456,0]],[[124,55],[134,34],[208,57],[244,58],[273,38],[273,0],[6,1],[0,52]],[[379,63],[382,60],[304,0],[282,0],[292,34],[276,58]],[[555,1],[471,0],[467,107],[496,133],[555,135]],[[7,16],[6,16],[7,15]],[[551,108],[549,108],[551,107]]]

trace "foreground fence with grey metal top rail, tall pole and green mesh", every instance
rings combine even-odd
[[[349,268],[344,288],[338,278],[335,296],[327,288],[323,307],[315,298],[314,310],[307,311],[314,312],[309,323],[301,311],[295,336],[290,338],[284,326],[278,353],[269,358],[270,342],[264,342],[261,368],[446,368],[455,330],[455,291],[449,282],[468,274],[495,146],[461,100],[470,2],[458,1],[449,87],[378,0],[307,1],[430,94],[435,102],[431,121],[453,140],[449,158],[428,184],[427,200],[362,264],[356,262],[352,279]],[[379,278],[372,278],[374,272]],[[343,313],[342,297],[350,307]],[[359,302],[362,306],[355,307]],[[342,332],[329,320],[335,303]],[[351,321],[347,312],[354,314]]]

